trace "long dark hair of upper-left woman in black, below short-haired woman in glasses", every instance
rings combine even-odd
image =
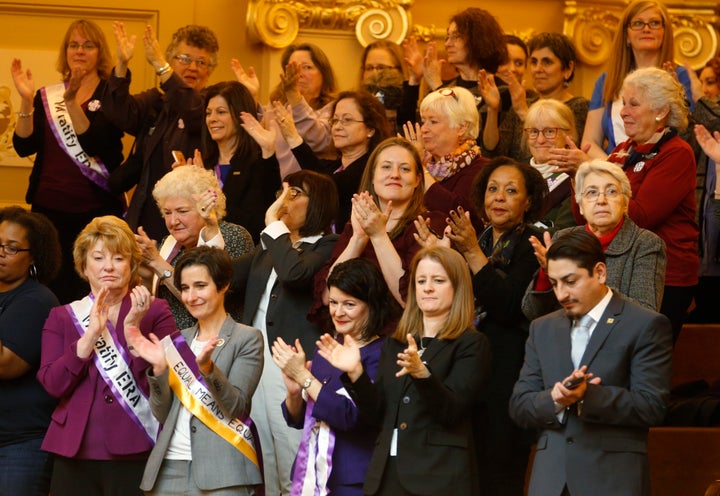
[[[205,92],[206,109],[210,100],[216,96],[221,96],[225,99],[230,117],[232,118],[233,124],[235,124],[237,147],[235,148],[233,157],[238,157],[242,160],[254,159],[260,152],[260,146],[242,127],[242,120],[240,119],[240,112],[247,112],[252,115],[257,114],[257,104],[250,90],[237,81],[223,81],[208,86]],[[204,117],[202,120],[201,142],[203,162],[207,166],[217,164],[220,160],[220,150],[218,149],[217,143],[215,143],[210,136],[210,131],[208,130]]]

